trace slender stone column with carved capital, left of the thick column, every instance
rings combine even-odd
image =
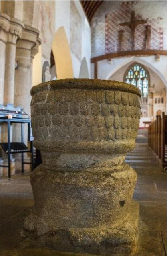
[[[20,37],[23,27],[23,23],[16,18],[10,19],[10,28],[6,43],[4,104],[14,103],[16,41]]]

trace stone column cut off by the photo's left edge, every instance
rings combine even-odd
[[[9,26],[9,16],[0,13],[0,104],[4,104],[5,53]]]

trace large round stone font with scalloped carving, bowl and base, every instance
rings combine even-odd
[[[130,255],[139,219],[137,175],[124,164],[135,147],[141,96],[135,86],[65,79],[31,90],[35,207],[24,229],[40,245],[97,255]]]

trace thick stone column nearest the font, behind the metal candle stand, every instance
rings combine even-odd
[[[31,89],[31,51],[36,46],[38,29],[26,26],[16,44],[16,61],[18,68],[15,71],[14,105],[20,106],[30,115]],[[20,129],[13,127],[13,141],[20,141]],[[26,131],[27,129],[25,129]],[[27,141],[27,132],[24,132],[24,141]]]

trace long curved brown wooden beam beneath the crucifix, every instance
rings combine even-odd
[[[134,50],[134,51],[120,51],[117,53],[107,53],[105,55],[97,56],[91,58],[91,63],[95,63],[97,61],[101,61],[104,59],[111,59],[117,57],[125,57],[125,56],[137,56],[137,55],[167,55],[167,51],[165,50]]]

